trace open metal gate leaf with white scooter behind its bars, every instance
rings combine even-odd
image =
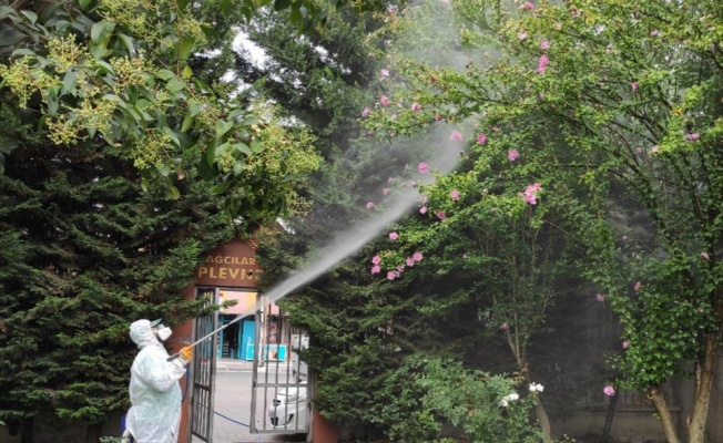
[[[286,313],[278,307],[265,303],[256,311],[252,433],[308,433],[312,415],[308,370],[299,358],[307,347],[308,334],[289,326]]]

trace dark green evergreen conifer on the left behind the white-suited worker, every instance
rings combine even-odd
[[[233,225],[193,172],[181,198],[153,198],[99,144],[58,150],[0,112],[23,140],[0,175],[0,419],[102,423],[129,406],[129,323],[197,312],[181,291]]]

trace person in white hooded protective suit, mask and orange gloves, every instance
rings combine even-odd
[[[193,359],[193,348],[181,349],[177,359],[167,361],[169,352],[162,342],[171,333],[161,320],[131,324],[130,336],[140,351],[131,365],[131,409],[125,416],[123,443],[177,443],[182,401],[179,380]]]

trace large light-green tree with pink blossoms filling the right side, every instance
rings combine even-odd
[[[442,69],[394,54],[407,83],[373,127],[471,120],[460,137],[473,144],[473,168],[430,188],[447,199],[428,210],[560,208],[585,275],[622,319],[618,387],[645,390],[678,442],[662,385],[693,363],[688,441],[702,442],[723,324],[720,4],[462,0],[449,10],[458,41],[485,56]]]

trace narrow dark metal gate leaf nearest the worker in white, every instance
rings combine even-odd
[[[204,307],[211,307],[217,300],[216,288],[196,289],[196,300],[203,299]],[[218,316],[212,312],[195,320],[193,340],[216,330]],[[193,388],[191,390],[191,434],[203,442],[210,443],[213,437],[213,377],[216,371],[217,336],[196,344],[193,359]]]

